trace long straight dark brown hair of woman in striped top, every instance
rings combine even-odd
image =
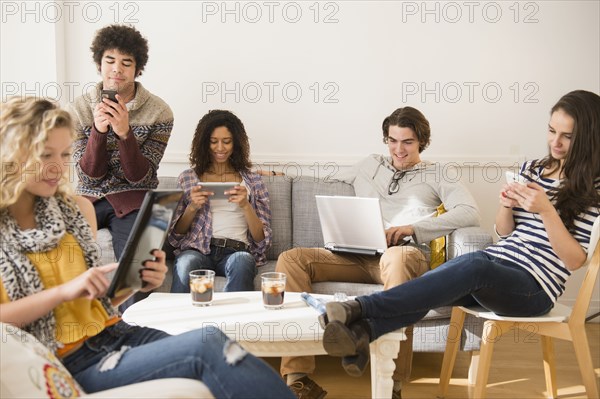
[[[556,199],[556,209],[565,227],[574,232],[576,217],[590,207],[600,206],[596,188],[600,178],[600,96],[584,90],[572,91],[558,100],[550,115],[558,110],[573,118],[573,135],[562,166],[565,178],[550,195]],[[560,160],[551,153],[531,168],[540,165],[550,173],[561,167]]]

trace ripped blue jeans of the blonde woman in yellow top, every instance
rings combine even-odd
[[[121,321],[62,361],[88,393],[190,378],[202,381],[216,398],[294,398],[275,370],[214,327],[171,336]]]

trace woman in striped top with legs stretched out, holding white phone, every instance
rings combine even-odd
[[[430,309],[479,304],[506,316],[549,312],[572,271],[586,260],[600,214],[600,97],[587,91],[563,96],[551,110],[548,155],[526,162],[526,184],[500,192],[500,241],[465,254],[390,290],[327,305],[325,350],[360,375],[369,345],[412,325]]]

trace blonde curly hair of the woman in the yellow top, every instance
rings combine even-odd
[[[16,203],[25,189],[24,171],[37,170],[52,129],[66,127],[74,137],[73,122],[67,111],[55,103],[35,97],[12,97],[0,105],[0,209]],[[59,185],[57,195],[71,192],[68,174]]]

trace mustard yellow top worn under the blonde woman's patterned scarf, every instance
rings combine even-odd
[[[37,269],[46,289],[74,279],[87,270],[81,246],[71,234],[65,234],[59,245],[46,252],[29,253],[27,257]],[[1,282],[1,280],[0,280]],[[9,302],[4,284],[0,284],[0,303]],[[97,335],[114,320],[99,300],[78,298],[54,308],[56,340],[71,346]]]

